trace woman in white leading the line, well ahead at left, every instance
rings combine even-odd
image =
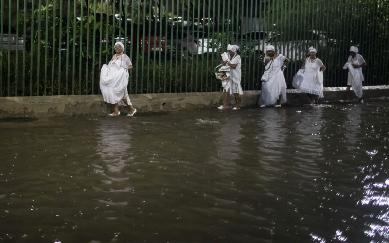
[[[100,71],[100,90],[105,102],[115,104],[115,111],[109,116],[120,115],[119,106],[128,106],[127,116],[133,116],[137,110],[132,107],[127,92],[128,70],[132,69],[130,58],[123,53],[122,42],[115,43],[115,52],[108,65],[104,64]]]

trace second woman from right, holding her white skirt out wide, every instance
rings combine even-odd
[[[293,77],[292,86],[307,93],[310,99],[310,104],[315,103],[315,96],[323,98],[323,72],[326,68],[323,62],[316,57],[316,49],[310,47],[309,57],[305,59],[301,69]]]

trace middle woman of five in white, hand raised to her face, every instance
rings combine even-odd
[[[289,62],[285,56],[275,52],[274,46],[266,47],[266,56],[263,61],[265,72],[261,78],[261,96],[258,101],[260,107],[272,104],[276,104],[274,107],[281,107],[281,104],[286,102],[286,82],[283,70]]]

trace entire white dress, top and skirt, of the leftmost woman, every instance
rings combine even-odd
[[[119,58],[114,56],[108,65],[104,64],[101,68],[100,90],[105,102],[126,106],[122,101],[126,98],[128,105],[132,105],[127,92],[129,74],[125,70],[129,65],[132,65],[130,58],[122,54]]]

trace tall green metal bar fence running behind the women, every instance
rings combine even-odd
[[[270,43],[292,60],[288,87],[309,46],[326,87],[346,86],[351,45],[365,85],[388,84],[388,0],[1,0],[0,14],[0,96],[98,94],[117,40],[131,94],[219,91],[228,43],[240,46],[244,90],[260,89]]]

